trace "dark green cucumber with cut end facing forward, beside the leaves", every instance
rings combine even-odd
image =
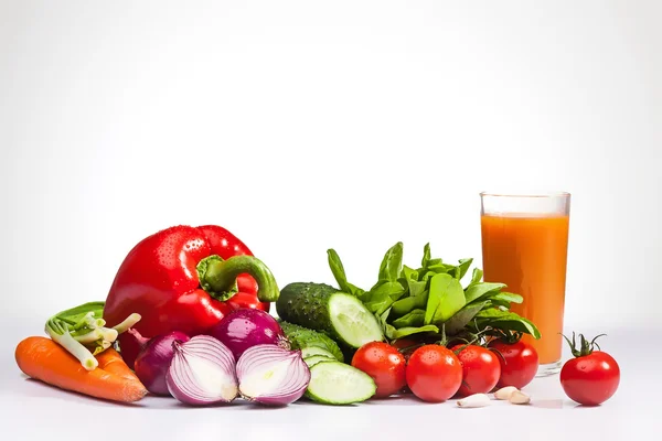
[[[376,316],[361,300],[329,284],[286,286],[276,301],[276,312],[287,322],[328,333],[350,347],[384,340]]]

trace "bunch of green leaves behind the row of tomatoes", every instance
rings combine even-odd
[[[386,251],[377,281],[370,290],[348,282],[335,250],[328,251],[329,266],[340,288],[360,299],[378,318],[388,340],[416,336],[435,340],[444,329],[447,336],[471,337],[485,329],[516,331],[540,338],[528,320],[510,312],[511,303],[522,297],[504,292],[505,284],[481,281],[482,270],[474,268],[471,280],[462,288],[472,258],[458,265],[433,258],[430,246],[424,247],[420,267],[403,265],[403,244]]]

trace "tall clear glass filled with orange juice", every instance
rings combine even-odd
[[[500,194],[481,196],[484,281],[505,283],[522,295],[511,311],[541,332],[523,341],[538,353],[537,376],[560,369],[570,194]]]

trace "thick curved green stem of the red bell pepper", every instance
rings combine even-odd
[[[257,299],[260,302],[275,302],[280,295],[271,270],[254,256],[233,256],[223,260],[210,256],[197,263],[200,286],[216,300],[225,301],[233,297],[239,275],[249,275],[257,281]]]

